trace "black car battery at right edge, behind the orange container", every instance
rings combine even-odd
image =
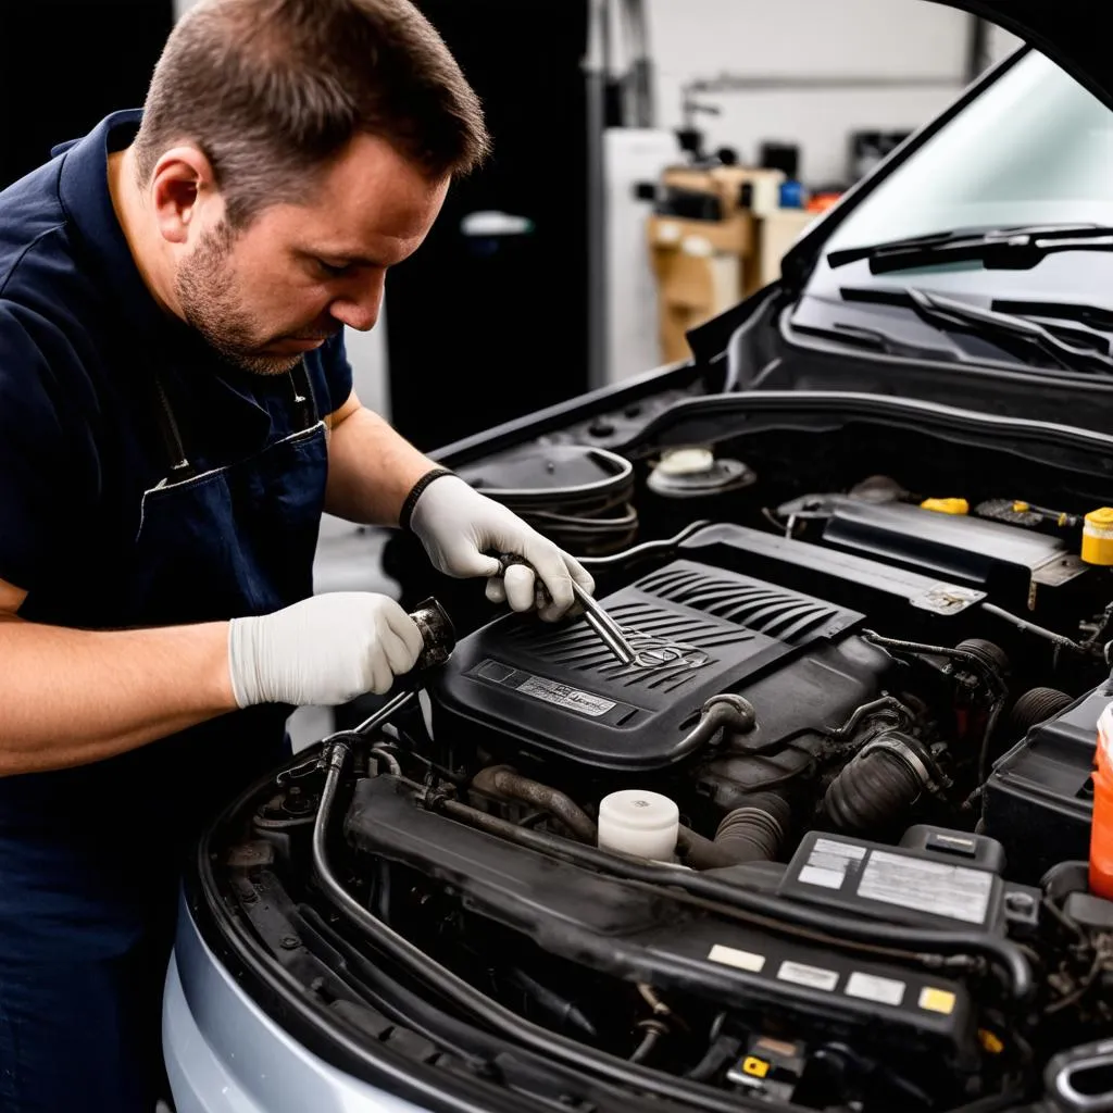
[[[985,786],[983,830],[1005,847],[1008,874],[1036,885],[1061,861],[1090,856],[1097,719],[1113,682],[1033,727]]]

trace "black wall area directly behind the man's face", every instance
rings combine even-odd
[[[484,102],[491,162],[387,278],[391,414],[423,449],[587,388],[584,0],[418,0]],[[535,230],[469,240],[469,213]]]

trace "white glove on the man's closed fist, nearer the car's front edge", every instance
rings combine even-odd
[[[423,648],[414,620],[393,599],[341,591],[233,619],[228,669],[240,707],[333,707],[388,691]]]

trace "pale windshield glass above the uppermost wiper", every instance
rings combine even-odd
[[[825,254],[956,228],[1113,225],[1111,181],[1113,112],[1032,51],[875,189]]]

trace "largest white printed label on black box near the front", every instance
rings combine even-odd
[[[899,908],[984,924],[993,874],[923,858],[874,850],[861,873],[858,896]]]

